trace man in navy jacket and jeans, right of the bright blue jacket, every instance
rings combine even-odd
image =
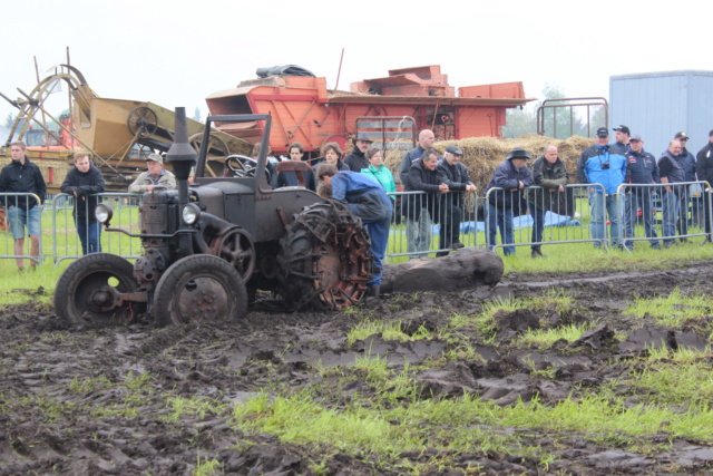
[[[658,177],[658,165],[656,158],[644,152],[644,139],[638,134],[634,134],[629,139],[631,152],[626,153],[626,179],[627,184],[657,184],[661,182]],[[626,237],[634,237],[634,225],[636,223],[636,212],[642,210],[642,218],[644,221],[644,233],[651,239],[651,247],[661,249],[661,243],[656,239],[656,227],[654,226],[654,216],[651,203],[651,192],[654,187],[633,187],[626,192],[626,206],[624,212],[624,229]],[[634,249],[633,241],[624,241],[624,245],[631,251]]]

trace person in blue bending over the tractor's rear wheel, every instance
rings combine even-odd
[[[336,171],[336,166],[322,163],[316,168],[320,194],[346,205],[352,215],[361,218],[371,236],[374,269],[369,281],[369,295],[379,298],[381,271],[389,243],[392,205],[381,184],[368,175],[351,171]]]

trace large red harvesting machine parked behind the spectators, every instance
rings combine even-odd
[[[506,109],[534,100],[525,97],[520,81],[461,87],[456,95],[440,66],[393,69],[384,78],[353,82],[349,93],[328,90],[325,78],[296,66],[261,68],[257,76],[208,96],[211,114],[268,114],[271,148],[285,154],[299,142],[312,157],[328,142],[344,148],[358,130],[388,149],[411,148],[424,128],[438,140],[500,137]],[[255,143],[263,126],[217,128]]]

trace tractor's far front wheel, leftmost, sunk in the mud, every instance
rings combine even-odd
[[[104,311],[97,295],[105,288],[116,292],[136,292],[134,266],[121,256],[91,253],[81,256],[62,272],[55,290],[55,312],[74,324],[117,326],[130,322],[144,312],[143,303],[126,303]],[[109,294],[105,293],[108,299]]]

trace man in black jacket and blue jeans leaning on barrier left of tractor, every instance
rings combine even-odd
[[[75,197],[75,224],[84,254],[101,251],[101,224],[94,216],[97,206],[94,195],[104,193],[104,176],[89,161],[89,154],[75,154],[75,167],[67,173],[60,191]]]

